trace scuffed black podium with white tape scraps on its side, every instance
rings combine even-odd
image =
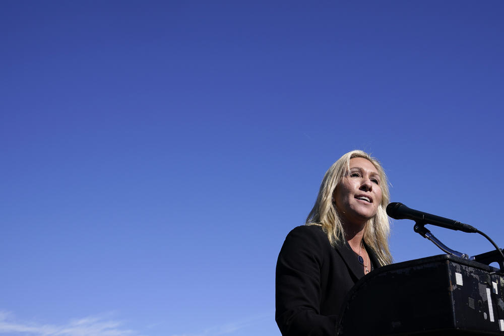
[[[443,254],[386,265],[348,293],[337,334],[504,336],[504,277]]]

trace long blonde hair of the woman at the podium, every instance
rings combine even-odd
[[[320,185],[315,205],[306,218],[306,225],[321,225],[333,247],[345,242],[341,218],[333,203],[333,193],[336,186],[350,170],[350,159],[353,158],[369,160],[380,174],[382,201],[376,215],[365,224],[364,241],[373,250],[380,264],[392,263],[389,249],[390,223],[385,211],[390,200],[387,176],[380,162],[363,151],[356,150],[346,153],[328,169]]]

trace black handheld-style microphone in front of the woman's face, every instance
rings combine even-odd
[[[399,202],[390,203],[387,206],[387,215],[393,219],[411,219],[423,224],[432,224],[451,230],[460,230],[469,233],[477,233],[478,230],[469,224],[460,223],[453,219],[427,214],[418,210],[413,210]]]

